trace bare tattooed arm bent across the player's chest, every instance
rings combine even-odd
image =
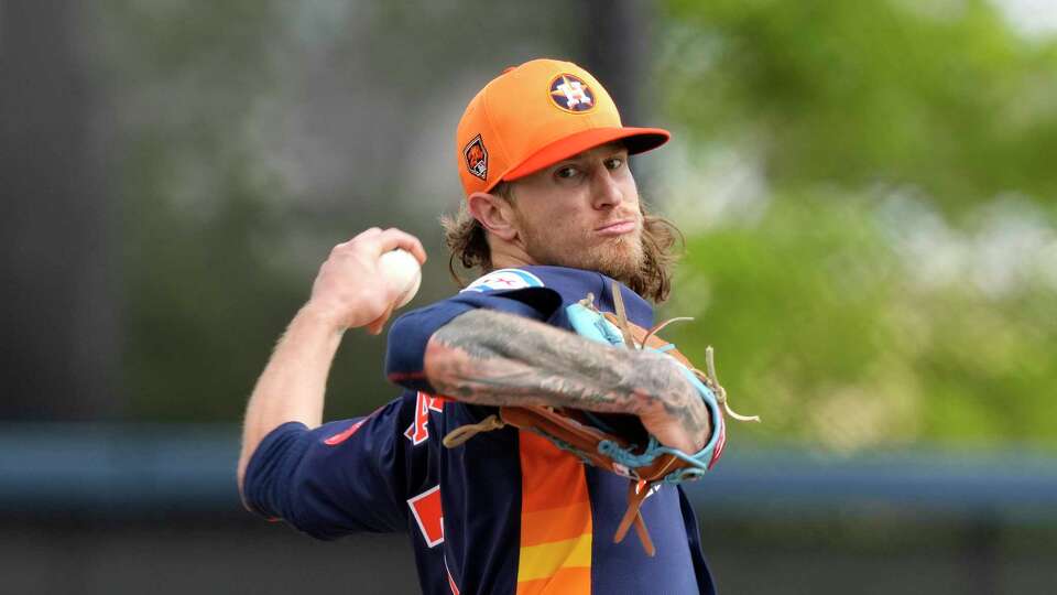
[[[553,405],[638,415],[663,444],[696,452],[708,410],[672,358],[617,349],[543,323],[475,310],[426,345],[425,372],[443,394],[487,405]]]

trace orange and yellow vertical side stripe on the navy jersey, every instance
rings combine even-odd
[[[593,524],[584,464],[531,432],[519,439],[517,593],[590,593]]]

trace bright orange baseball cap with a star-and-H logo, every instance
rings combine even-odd
[[[669,138],[660,128],[624,127],[609,93],[584,68],[533,60],[506,68],[470,100],[455,142],[469,196],[607,142],[623,140],[635,154]]]

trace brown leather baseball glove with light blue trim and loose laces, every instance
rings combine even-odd
[[[499,414],[489,415],[476,424],[464,425],[444,437],[447,447],[462,444],[478,432],[512,425],[535,432],[559,448],[577,455],[585,463],[610,470],[629,479],[628,510],[624,512],[614,542],[624,539],[634,526],[647,555],[655,550],[640,513],[640,507],[651,489],[660,484],[680,484],[701,477],[722,454],[726,426],[722,411],[742,421],[759,421],[743,416],[727,405],[727,392],[716,378],[712,348],[706,350],[707,372],[694,367],[674,345],[657,336],[657,332],[676,321],[672,318],[645,329],[628,321],[619,288],[613,286],[617,313],[599,312],[595,298],[588,294],[566,309],[577,334],[592,340],[631,349],[651,349],[663,353],[679,364],[679,369],[697,388],[709,410],[712,434],[699,452],[689,454],[662,445],[650,435],[634,415],[601,415],[588,411],[551,407],[501,407]],[[720,409],[722,405],[722,409]]]

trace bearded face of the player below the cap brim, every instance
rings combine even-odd
[[[517,180],[513,196],[515,226],[535,263],[618,280],[641,269],[639,190],[621,144],[590,149]]]

